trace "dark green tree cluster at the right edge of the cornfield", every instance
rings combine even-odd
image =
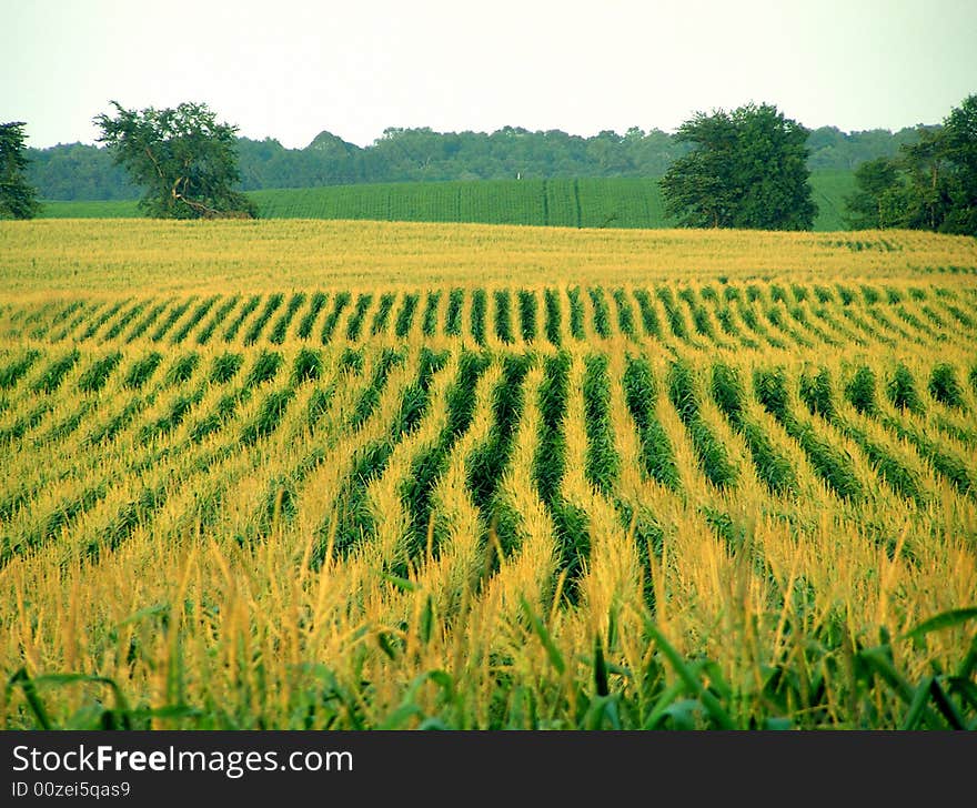
[[[863,163],[846,200],[854,228],[977,235],[977,94],[894,158]]]

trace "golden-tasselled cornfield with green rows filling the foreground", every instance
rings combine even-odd
[[[0,223],[6,727],[977,727],[977,243]]]

